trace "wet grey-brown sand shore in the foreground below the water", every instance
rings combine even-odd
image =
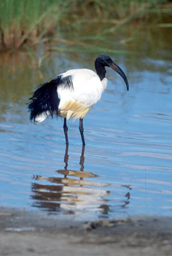
[[[0,208],[0,255],[172,255],[172,218],[70,221]]]

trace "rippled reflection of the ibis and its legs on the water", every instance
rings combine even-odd
[[[35,182],[31,184],[34,200],[33,207],[38,207],[49,212],[63,212],[65,214],[77,214],[79,211],[97,208],[101,216],[106,217],[111,211],[111,202],[106,199],[111,191],[104,188],[110,187],[107,182],[98,182],[95,180],[87,180],[97,178],[98,175],[92,172],[84,171],[84,151],[82,152],[79,164],[80,170],[68,170],[68,145],[66,145],[64,157],[64,169],[57,170],[56,173],[63,177],[45,177],[41,175],[33,175]],[[72,177],[72,178],[71,178]],[[42,184],[42,182],[49,184]],[[125,186],[125,185],[124,185]],[[125,186],[131,189],[129,186]],[[118,208],[124,208],[130,202],[130,193],[127,192],[125,200],[120,202]],[[94,207],[93,207],[94,205]]]

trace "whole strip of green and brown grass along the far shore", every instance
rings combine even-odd
[[[1,0],[0,51],[52,40],[86,47],[84,40],[104,38],[125,24],[171,28],[171,12],[167,0]]]

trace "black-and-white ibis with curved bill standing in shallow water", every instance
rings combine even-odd
[[[100,54],[95,60],[97,73],[86,68],[72,69],[59,74],[50,82],[41,84],[30,98],[28,105],[30,120],[42,122],[47,116],[63,117],[63,129],[68,144],[66,120],[70,117],[74,117],[74,120],[79,118],[79,131],[82,144],[85,145],[83,118],[100,100],[102,92],[106,89],[105,67],[113,68],[120,74],[129,90],[129,83],[123,70],[107,54]]]

